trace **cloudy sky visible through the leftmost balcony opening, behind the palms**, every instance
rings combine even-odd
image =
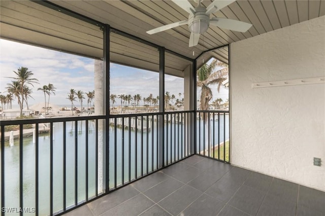
[[[0,45],[0,92],[3,94],[12,80],[6,77],[15,77],[13,70],[21,66],[27,67],[33,78],[39,80],[39,84],[30,86],[35,98],[29,99],[30,104],[44,101],[44,93],[37,89],[49,83],[56,88],[55,95],[50,97],[50,102],[56,104],[69,104],[66,97],[70,88],[84,92],[94,89],[93,59],[2,39]]]

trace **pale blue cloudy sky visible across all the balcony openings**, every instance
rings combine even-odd
[[[39,80],[39,84],[29,86],[34,98],[28,99],[29,105],[44,102],[44,93],[37,89],[49,83],[56,88],[55,95],[50,97],[50,103],[56,105],[70,104],[66,98],[71,88],[83,92],[94,90],[93,59],[0,39],[0,94],[7,94],[7,84],[13,80],[8,77],[15,77],[13,71],[21,66],[27,67],[34,74],[32,78]],[[114,63],[110,67],[111,94],[140,94],[142,97],[149,94],[155,97],[159,94],[158,73]],[[165,82],[165,91],[175,94],[176,98],[183,97],[178,96],[179,93],[184,93],[182,78],[166,75]],[[216,87],[212,86],[212,89],[216,92]],[[219,97],[225,101],[228,90],[221,88],[213,99]],[[86,101],[84,99],[84,106]],[[116,102],[120,103],[118,99]],[[12,104],[13,107],[18,107],[17,100]],[[79,104],[79,101],[75,104]]]

